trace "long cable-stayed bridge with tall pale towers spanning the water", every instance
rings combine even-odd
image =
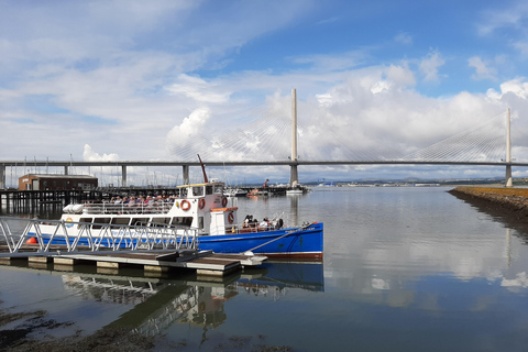
[[[68,174],[75,166],[121,167],[127,186],[128,166],[182,166],[184,183],[189,167],[200,166],[290,166],[290,184],[298,182],[297,167],[310,165],[485,165],[506,167],[506,183],[512,183],[512,166],[528,166],[512,160],[509,109],[474,124],[465,131],[425,147],[402,146],[385,139],[370,139],[350,124],[339,122],[297,125],[295,89],[292,117],[284,111],[261,111],[254,118],[227,127],[185,131],[167,141],[173,161],[34,161],[31,166],[62,166]],[[273,110],[273,109],[272,109]],[[311,123],[311,124],[310,124]],[[297,142],[298,140],[298,142]],[[424,136],[427,140],[427,136]],[[395,147],[396,145],[396,147]],[[300,151],[297,153],[297,148]],[[6,167],[22,166],[23,161],[0,161],[0,188],[6,187]]]

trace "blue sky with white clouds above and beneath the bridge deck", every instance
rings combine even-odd
[[[510,108],[513,157],[525,161],[527,64],[526,1],[0,0],[0,161],[287,160],[294,88],[300,160],[408,155]],[[134,173],[140,184],[154,170]],[[284,167],[212,173],[289,177]],[[299,175],[463,178],[504,168]]]

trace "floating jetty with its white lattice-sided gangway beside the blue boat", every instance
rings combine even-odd
[[[24,230],[12,233],[10,223],[22,222]],[[141,265],[145,272],[169,272],[172,268],[196,271],[198,275],[223,276],[243,266],[261,265],[266,256],[245,254],[215,254],[200,251],[197,229],[161,229],[145,226],[100,224],[105,237],[94,237],[90,224],[70,222],[80,228],[74,237],[63,221],[47,220],[54,226],[53,237],[43,235],[38,219],[0,217],[0,261],[11,263],[28,260],[32,263],[76,265],[96,263],[98,267],[119,268],[123,265]],[[19,226],[20,228],[20,226]],[[52,240],[53,238],[53,240]],[[79,240],[85,240],[79,244]],[[53,243],[53,241],[58,241]],[[105,245],[101,243],[105,241]],[[64,243],[64,244],[63,244]],[[250,253],[251,254],[251,253]]]

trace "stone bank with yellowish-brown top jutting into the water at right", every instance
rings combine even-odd
[[[528,220],[528,188],[460,186],[449,193],[480,208]]]

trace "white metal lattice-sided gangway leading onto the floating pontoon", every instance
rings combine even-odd
[[[0,257],[197,251],[199,230],[0,217]]]

